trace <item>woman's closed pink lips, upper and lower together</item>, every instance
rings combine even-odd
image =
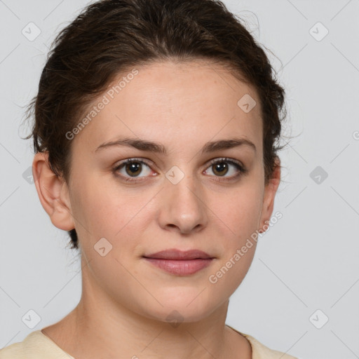
[[[151,255],[144,256],[151,264],[179,276],[194,274],[209,266],[213,257],[202,250],[162,250]]]

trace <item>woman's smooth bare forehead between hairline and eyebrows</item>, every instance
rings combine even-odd
[[[78,136],[86,139],[90,151],[119,136],[179,148],[191,141],[241,135],[262,149],[257,91],[226,69],[202,60],[134,69],[116,76],[85,114],[97,107]]]

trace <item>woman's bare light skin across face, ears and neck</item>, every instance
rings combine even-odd
[[[208,277],[252,233],[263,232],[273,212],[280,163],[265,185],[259,97],[252,86],[201,60],[138,70],[72,140],[68,184],[50,170],[46,153],[34,157],[43,208],[57,228],[78,233],[83,283],[78,306],[43,333],[76,359],[252,358],[247,339],[225,320],[255,242],[217,283]],[[248,113],[237,105],[245,94],[257,101]],[[125,146],[95,151],[118,137],[161,142],[168,154]],[[250,140],[256,151],[243,146],[201,154],[206,142],[233,137]],[[248,172],[235,178],[238,170],[228,162],[228,172],[216,172],[209,161],[223,157]],[[137,172],[139,182],[125,182],[112,170],[127,158],[149,164]],[[165,177],[172,166],[184,173],[177,184]],[[117,173],[134,179],[126,167]],[[102,237],[112,245],[104,257],[94,250]],[[177,276],[142,258],[170,248],[200,249],[215,259]],[[166,321],[174,310],[182,318],[177,327]]]

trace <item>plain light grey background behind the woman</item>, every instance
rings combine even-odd
[[[287,90],[284,135],[293,137],[280,152],[273,213],[283,218],[260,238],[227,323],[299,358],[359,358],[359,1],[224,3],[276,55],[267,52]],[[78,256],[27,176],[33,153],[20,123],[48,46],[86,4],[0,0],[0,348],[80,299]],[[22,34],[29,22],[41,29],[34,41]],[[323,39],[317,22],[329,31]],[[41,318],[32,329],[22,321],[29,310]]]

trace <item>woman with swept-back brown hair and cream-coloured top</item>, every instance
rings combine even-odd
[[[284,94],[219,1],[84,9],[28,113],[36,190],[81,254],[81,300],[0,358],[294,358],[225,324],[272,220]]]

